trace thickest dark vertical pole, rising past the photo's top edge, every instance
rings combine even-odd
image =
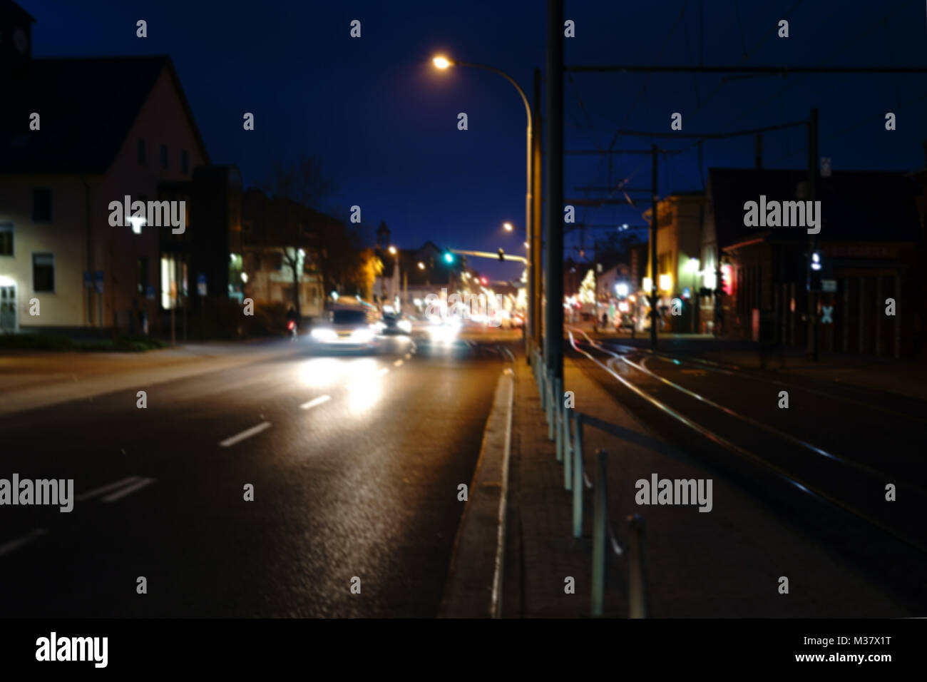
[[[564,376],[564,2],[547,0],[547,336],[544,356]]]

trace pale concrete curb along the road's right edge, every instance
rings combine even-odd
[[[476,470],[454,538],[439,618],[498,618],[502,611],[513,406],[514,372],[506,368],[496,384]]]

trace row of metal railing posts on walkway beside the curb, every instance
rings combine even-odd
[[[607,549],[611,546],[616,556],[627,555],[628,560],[628,602],[630,618],[645,618],[647,615],[646,585],[643,560],[643,518],[630,515],[625,522],[628,532],[627,549],[622,547],[612,528],[608,516],[608,455],[599,449],[593,462],[593,478],[590,481],[585,472],[586,457],[583,450],[583,428],[594,427],[623,441],[642,445],[660,452],[667,448],[645,435],[611,424],[591,415],[578,412],[564,405],[563,385],[553,376],[552,370],[544,364],[540,350],[535,350],[531,367],[540,394],[540,407],[547,419],[548,438],[556,444],[556,458],[564,463],[564,489],[573,496],[573,537],[582,536],[583,491],[592,495],[592,575],[591,614],[601,616],[605,597],[605,575]]]

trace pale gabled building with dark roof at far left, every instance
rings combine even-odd
[[[209,163],[171,58],[32,58],[33,21],[0,4],[0,328],[157,324],[171,227],[112,226],[110,204]]]

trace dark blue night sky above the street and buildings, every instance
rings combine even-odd
[[[435,71],[437,52],[508,71],[529,97],[544,67],[543,0],[493,2],[200,2],[196,0],[20,0],[37,19],[38,57],[168,53],[184,84],[211,160],[235,163],[246,185],[274,161],[314,155],[335,181],[332,207],[358,204],[366,225],[383,219],[403,247],[495,251],[521,247],[525,192],[525,112],[510,84],[485,71]],[[855,0],[666,0],[565,3],[577,37],[567,64],[922,66],[927,64],[923,0],[887,6]],[[704,12],[700,18],[700,9]],[[789,13],[791,11],[791,13]],[[786,16],[788,14],[788,16]],[[789,19],[788,39],[776,36]],[[146,19],[148,37],[135,37]],[[349,37],[351,19],[362,38]],[[702,38],[700,39],[700,34]],[[113,84],[118,103],[119,84]],[[710,97],[709,97],[710,96]],[[607,148],[619,128],[667,131],[683,114],[684,133],[727,132],[805,119],[820,110],[820,155],[833,168],[922,168],[927,76],[721,76],[575,73],[565,83],[566,148]],[[242,130],[252,111],[256,130]],[[465,111],[469,130],[457,130]],[[884,130],[894,111],[897,130]],[[660,192],[699,189],[690,148],[661,165]],[[619,137],[616,148],[649,148]],[[705,144],[704,166],[751,166],[753,138]],[[765,139],[765,165],[806,163],[804,128]],[[650,161],[616,156],[612,181],[645,187]],[[603,158],[567,157],[565,194],[604,187]],[[642,225],[646,206],[578,210],[596,225]],[[604,234],[597,230],[597,236]],[[587,234],[587,244],[591,235]],[[578,234],[567,240],[578,243]],[[514,264],[492,264],[514,277]],[[478,265],[477,265],[478,266]]]

